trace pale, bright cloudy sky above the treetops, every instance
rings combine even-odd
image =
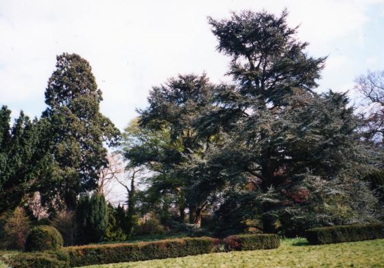
[[[205,71],[212,82],[229,81],[207,16],[285,7],[309,55],[328,56],[319,92],[350,90],[357,75],[384,69],[384,1],[0,0],[0,105],[12,117],[40,117],[56,55],[78,53],[103,92],[101,112],[122,130],[169,77]]]

